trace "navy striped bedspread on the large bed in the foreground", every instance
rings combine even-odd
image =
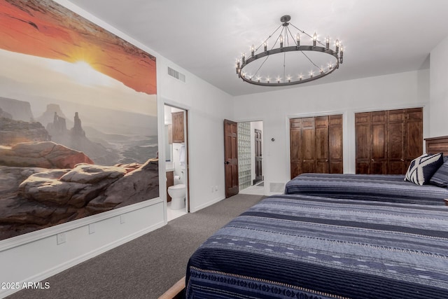
[[[186,298],[448,298],[448,207],[267,197],[195,251]]]

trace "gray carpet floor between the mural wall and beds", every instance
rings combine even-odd
[[[48,290],[8,298],[158,298],[186,274],[188,258],[207,237],[262,198],[229,197],[45,279]]]

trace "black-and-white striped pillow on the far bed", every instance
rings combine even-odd
[[[412,160],[407,169],[405,181],[411,181],[417,185],[429,183],[433,174],[443,164],[443,154],[421,155],[419,158]]]

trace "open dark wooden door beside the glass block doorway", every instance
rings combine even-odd
[[[224,120],[225,197],[238,194],[238,124]]]

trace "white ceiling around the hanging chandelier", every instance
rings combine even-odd
[[[344,64],[303,86],[426,69],[448,36],[447,0],[69,1],[230,95],[276,89],[241,81],[235,61],[282,15],[344,44]]]

